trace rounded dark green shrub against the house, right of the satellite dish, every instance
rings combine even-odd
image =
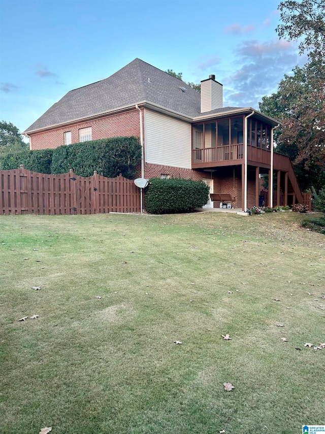
[[[151,214],[189,212],[208,202],[209,187],[202,181],[151,178],[145,209]]]

